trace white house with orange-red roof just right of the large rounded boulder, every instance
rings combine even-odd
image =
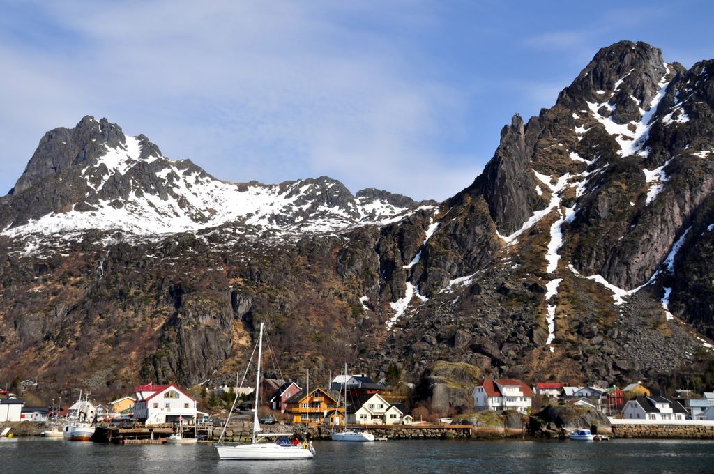
[[[479,410],[517,410],[528,413],[533,390],[523,380],[487,378],[473,389],[473,403]]]

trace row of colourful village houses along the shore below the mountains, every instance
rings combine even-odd
[[[51,400],[49,405],[33,405],[26,403],[25,398],[36,398],[31,394],[37,383],[24,380],[20,386],[19,394],[0,390],[0,428],[4,428],[0,431],[3,435],[49,433],[51,429],[46,427],[59,430],[66,420],[79,418],[81,414],[101,427],[93,437],[95,441],[124,443],[129,439],[136,442],[143,439],[146,443],[161,443],[177,431],[189,438],[208,441],[225,430],[223,427],[228,428],[227,411],[234,407],[229,426],[231,431],[236,431],[235,438],[241,438],[238,426],[251,424],[249,419],[252,417],[248,415],[256,405],[253,388],[221,385],[211,389],[187,389],[174,383],[136,385],[132,393],[108,402],[91,400],[86,394],[84,399],[80,396],[78,400],[64,400],[63,403],[60,398]],[[548,407],[570,407],[578,413],[596,414],[595,418],[587,419],[609,420],[613,430],[615,425],[623,424],[714,426],[713,392],[675,390],[664,395],[654,393],[639,382],[623,388],[603,388],[557,382],[528,385],[523,380],[485,379],[473,387],[470,400],[473,409],[463,413],[431,413],[423,405],[413,405],[409,399],[411,388],[408,384],[394,387],[386,380],[375,382],[365,374],[338,375],[323,386],[264,377],[260,387],[260,393],[264,395],[257,403],[259,422],[266,428],[280,425],[281,430],[289,425],[291,430],[302,430],[313,436],[334,426],[378,429],[386,438],[401,438],[391,436],[390,430],[406,428],[433,428],[442,434],[451,428],[458,433],[473,435],[486,426],[481,423],[484,415],[511,413],[525,420]],[[24,425],[23,422],[34,423],[43,430],[17,428]],[[563,425],[557,428],[577,427]],[[121,435],[119,430],[123,430]],[[126,434],[130,432],[134,434]]]

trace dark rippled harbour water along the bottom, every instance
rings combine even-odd
[[[314,443],[309,461],[221,461],[211,445],[0,440],[0,473],[712,473],[714,441]]]

